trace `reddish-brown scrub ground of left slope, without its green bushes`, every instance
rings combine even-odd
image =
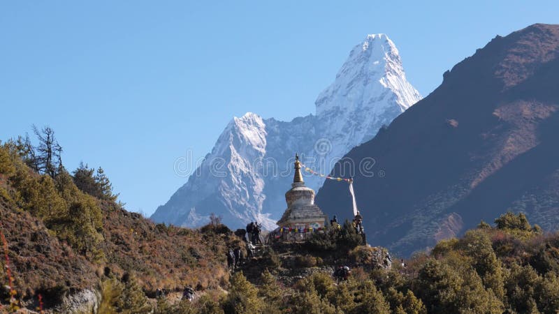
[[[27,166],[17,158],[10,160],[5,147],[0,149],[4,150],[0,151],[4,153],[0,156],[0,230],[6,236],[18,299],[32,303],[41,293],[48,299],[47,306],[54,305],[64,295],[98,289],[107,271],[118,278],[126,272],[133,274],[147,295],[154,294],[157,287],[182,290],[191,285],[205,289],[227,283],[224,252],[230,238],[156,225],[106,200],[95,200],[102,213],[103,239],[99,248],[103,257],[80,255],[60,241],[56,232],[48,230],[41,218],[20,208],[13,195],[21,191],[13,184],[15,174],[10,167]],[[50,180],[31,170],[25,172],[31,180]],[[5,263],[3,258],[1,264]],[[0,278],[2,285],[7,283],[4,267]],[[6,295],[0,295],[0,303],[5,299]]]

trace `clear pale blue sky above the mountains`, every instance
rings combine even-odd
[[[386,33],[423,96],[442,73],[559,1],[3,1],[0,139],[55,129],[64,163],[101,165],[151,214],[233,117],[314,113],[351,47]]]

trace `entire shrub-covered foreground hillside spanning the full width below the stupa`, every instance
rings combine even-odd
[[[544,234],[523,214],[392,262],[347,222],[306,243],[259,248],[230,272],[224,253],[241,240],[219,218],[199,230],[156,225],[124,211],[100,171],[92,177],[80,167],[72,177],[59,167],[53,179],[31,170],[17,143],[0,147],[8,256],[0,276],[10,285],[0,292],[2,313],[559,311],[559,234]],[[352,269],[347,280],[332,276],[340,265]],[[193,301],[180,301],[185,285],[196,290]],[[157,287],[168,294],[156,299]]]

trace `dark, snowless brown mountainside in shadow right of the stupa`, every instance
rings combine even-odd
[[[384,173],[354,181],[368,242],[409,255],[507,210],[558,230],[559,26],[497,36],[443,77],[345,156],[373,157]],[[317,202],[330,216],[351,216],[349,193],[336,182]]]

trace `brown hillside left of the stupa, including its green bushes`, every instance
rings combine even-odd
[[[152,223],[114,197],[82,192],[66,170],[55,179],[34,172],[20,149],[17,142],[0,146],[0,232],[21,306],[36,308],[41,294],[45,309],[92,311],[107,302],[107,290],[130,288],[147,302],[157,288],[227,283],[224,252],[239,241],[232,234]]]

